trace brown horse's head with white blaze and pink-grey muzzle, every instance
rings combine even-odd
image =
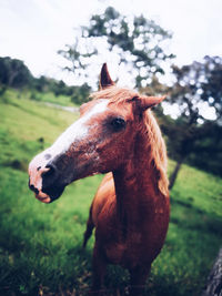
[[[137,134],[137,122],[163,98],[140,96],[118,89],[107,64],[101,90],[80,108],[80,119],[29,165],[29,186],[43,203],[57,200],[71,182],[115,171],[128,160]]]

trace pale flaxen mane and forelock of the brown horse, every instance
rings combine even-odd
[[[94,92],[91,94],[91,98],[94,100],[108,99],[110,103],[127,103],[131,101],[134,96],[140,96],[135,91],[128,89],[121,89],[114,86],[107,88],[104,90]],[[150,162],[153,162],[154,170],[157,170],[159,175],[158,186],[162,194],[168,195],[168,176],[167,176],[167,149],[161,135],[160,127],[158,122],[152,114],[151,110],[148,110],[143,114],[143,124],[141,126],[143,133],[148,137],[148,147],[150,149],[151,157]]]

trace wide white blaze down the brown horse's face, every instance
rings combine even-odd
[[[57,139],[57,141],[52,144],[52,146],[49,147],[49,151],[44,153],[50,153],[52,156],[58,155],[60,153],[65,153],[72,143],[85,139],[89,134],[89,129],[90,129],[90,126],[87,125],[87,123],[97,114],[104,112],[108,108],[108,103],[109,100],[101,100],[99,103],[97,103],[82,118],[80,118],[78,121],[71,124]]]

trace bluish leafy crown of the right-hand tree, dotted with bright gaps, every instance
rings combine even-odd
[[[170,89],[171,103],[179,105],[183,120],[189,125],[206,120],[219,123],[222,115],[222,59],[205,57],[203,62],[172,69],[175,83]]]

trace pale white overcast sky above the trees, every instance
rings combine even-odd
[[[21,59],[36,76],[79,84],[62,71],[64,60],[57,52],[73,43],[74,28],[108,6],[123,14],[142,13],[171,31],[178,65],[222,54],[221,0],[0,0],[0,57]],[[118,64],[109,67],[118,76]]]

